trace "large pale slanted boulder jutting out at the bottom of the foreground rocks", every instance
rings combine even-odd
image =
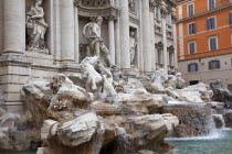
[[[66,146],[77,146],[88,142],[96,132],[97,121],[96,114],[92,112],[67,121],[59,128],[59,139]]]

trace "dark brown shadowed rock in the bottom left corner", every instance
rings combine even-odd
[[[38,144],[40,132],[19,114],[0,117],[0,151],[25,151]]]

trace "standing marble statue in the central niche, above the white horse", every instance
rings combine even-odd
[[[105,46],[103,38],[101,36],[101,26],[103,18],[98,16],[96,22],[92,21],[84,26],[83,34],[89,41],[88,50],[91,56],[99,57],[107,66],[112,67],[112,59],[109,56],[109,51]]]

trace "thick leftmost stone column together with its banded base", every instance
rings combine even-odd
[[[31,76],[25,51],[25,0],[3,0],[4,46],[0,56],[0,99],[6,110],[22,113],[22,85]]]

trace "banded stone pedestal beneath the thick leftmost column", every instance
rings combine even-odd
[[[21,54],[3,54],[0,56],[0,103],[9,112],[23,112],[20,91],[31,78],[31,62]]]

